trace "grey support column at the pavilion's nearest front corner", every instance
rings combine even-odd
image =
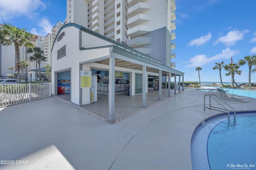
[[[108,121],[113,122],[115,117],[115,61],[109,58],[109,82],[108,82]]]

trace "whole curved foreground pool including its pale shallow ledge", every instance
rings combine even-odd
[[[255,114],[240,114],[236,122],[218,117],[202,124],[191,140],[193,169],[256,169],[255,129]]]

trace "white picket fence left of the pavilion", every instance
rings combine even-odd
[[[51,96],[51,83],[0,85],[0,107]]]

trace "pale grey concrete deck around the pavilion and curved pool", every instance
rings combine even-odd
[[[193,132],[220,113],[203,110],[204,95],[186,88],[113,125],[54,97],[1,108],[0,160],[14,164],[0,170],[192,170]],[[255,102],[229,103],[249,111]]]

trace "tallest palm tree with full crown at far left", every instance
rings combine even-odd
[[[10,24],[4,24],[3,29],[0,29],[0,43],[2,45],[12,45],[15,48],[15,69],[20,72],[20,46],[33,46],[32,38],[33,34],[26,32],[24,28],[17,28]],[[18,83],[20,83],[20,75],[17,74]]]

